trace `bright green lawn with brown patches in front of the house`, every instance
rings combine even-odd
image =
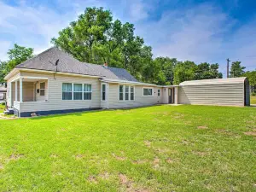
[[[255,191],[256,108],[0,121],[1,191]]]

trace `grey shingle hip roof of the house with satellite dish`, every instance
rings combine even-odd
[[[56,71],[55,61],[59,60],[57,71],[61,73],[76,73],[91,76],[100,76],[107,79],[120,79],[126,81],[137,81],[123,68],[103,67],[102,65],[90,64],[74,59],[71,55],[57,48],[50,48],[36,55],[16,68],[28,68],[45,71]]]

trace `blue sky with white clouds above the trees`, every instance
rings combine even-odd
[[[135,24],[154,56],[218,63],[226,58],[256,69],[256,2],[253,0],[0,0],[0,60],[17,43],[35,53],[86,7],[110,9],[114,19]]]

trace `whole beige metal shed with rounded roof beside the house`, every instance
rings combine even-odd
[[[181,104],[250,106],[249,81],[244,77],[184,81],[179,85]]]

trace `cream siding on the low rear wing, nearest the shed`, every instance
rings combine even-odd
[[[119,101],[119,84],[109,84],[108,90],[108,108],[132,108],[140,106],[149,106],[162,103],[162,88],[153,88],[153,96],[143,96],[143,87],[149,88],[144,85],[132,85],[134,86],[134,101]],[[157,90],[160,90],[160,96],[157,94]]]

